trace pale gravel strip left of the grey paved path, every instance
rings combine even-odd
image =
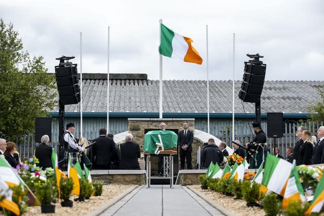
[[[89,200],[84,202],[73,202],[73,207],[61,207],[60,203],[55,204],[55,213],[51,214],[42,214],[41,206],[31,206],[29,207],[30,211],[23,214],[24,216],[54,216],[54,215],[85,215],[88,212],[91,212],[97,209],[99,206],[105,204],[113,197],[117,196],[120,193],[123,193],[127,189],[133,187],[133,185],[120,185],[120,184],[109,184],[104,185],[102,188],[101,196],[90,197]],[[76,197],[73,197],[76,198]],[[70,198],[72,200],[72,197]]]

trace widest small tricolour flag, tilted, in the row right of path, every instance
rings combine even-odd
[[[269,190],[284,196],[286,182],[291,170],[292,164],[290,162],[268,154],[261,184]]]

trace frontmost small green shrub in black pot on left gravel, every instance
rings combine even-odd
[[[55,205],[51,204],[55,190],[53,184],[50,181],[36,184],[36,197],[41,202],[42,213],[55,213]]]

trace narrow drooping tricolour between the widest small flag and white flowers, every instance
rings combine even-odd
[[[287,209],[290,202],[306,201],[303,187],[299,181],[299,175],[294,160],[293,169],[287,182],[284,199],[282,199],[282,209]]]

